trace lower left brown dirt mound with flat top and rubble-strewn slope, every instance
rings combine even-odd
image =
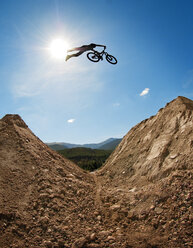
[[[18,115],[6,115],[0,120],[0,247],[71,247],[82,237],[90,242],[101,230],[93,182]]]

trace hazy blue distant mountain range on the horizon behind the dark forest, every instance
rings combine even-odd
[[[120,143],[120,141],[121,139],[109,138],[100,143],[91,143],[91,144],[84,144],[84,145],[70,144],[70,143],[65,143],[65,142],[52,142],[52,143],[46,143],[46,144],[55,151],[63,150],[66,148],[70,149],[70,148],[75,148],[75,147],[86,147],[86,148],[101,149],[101,150],[114,150],[115,147]]]

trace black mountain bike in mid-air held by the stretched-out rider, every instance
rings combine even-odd
[[[113,55],[105,52],[105,49],[102,52],[93,50],[93,52],[87,53],[87,58],[92,62],[99,62],[100,60],[103,60],[104,55],[106,56],[105,58],[110,64],[117,64],[117,59]]]

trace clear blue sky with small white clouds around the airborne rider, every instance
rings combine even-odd
[[[177,96],[193,99],[192,0],[0,0],[0,118],[43,142],[122,138]],[[51,53],[96,43],[118,60]],[[98,48],[100,50],[100,48]]]

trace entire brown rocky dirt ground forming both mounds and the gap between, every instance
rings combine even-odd
[[[81,170],[18,115],[0,120],[0,248],[193,247],[193,102],[132,128]]]

